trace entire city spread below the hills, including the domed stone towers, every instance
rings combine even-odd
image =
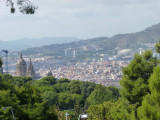
[[[79,48],[66,48],[64,50],[64,58],[62,56],[41,56],[38,55],[32,60],[27,56],[19,59],[16,52],[10,52],[9,56],[9,72],[16,76],[28,76],[32,78],[54,76],[58,79],[68,78],[71,80],[90,81],[105,86],[119,86],[119,80],[122,76],[122,68],[127,66],[130,60],[133,59],[135,53],[142,55],[145,49],[151,49],[153,56],[160,58],[160,54],[154,51],[154,44],[140,44],[142,48],[133,49],[120,49],[115,48],[112,52],[113,55],[98,53],[102,50],[99,46],[84,45]],[[144,47],[143,47],[144,46]],[[95,56],[89,62],[78,62],[79,51],[92,51],[96,50]],[[4,56],[3,56],[4,58]],[[66,59],[67,58],[67,59]],[[72,62],[69,58],[72,59]],[[89,57],[88,57],[89,58]],[[5,60],[5,59],[4,59]],[[86,58],[87,61],[87,58]],[[34,65],[34,67],[33,67]],[[5,69],[5,64],[3,64]],[[51,68],[49,68],[51,67]],[[48,69],[49,68],[49,69]],[[0,68],[0,73],[3,73],[3,68]]]

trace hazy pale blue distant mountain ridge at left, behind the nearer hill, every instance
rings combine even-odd
[[[50,44],[64,44],[79,41],[75,37],[45,37],[45,38],[23,38],[19,40],[0,41],[0,49],[22,50],[32,47],[41,47]]]

